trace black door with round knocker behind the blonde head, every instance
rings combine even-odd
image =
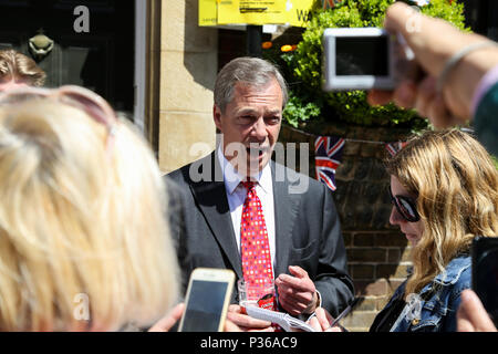
[[[75,29],[84,6],[87,32]],[[53,49],[37,62],[46,86],[75,84],[91,88],[117,110],[134,110],[135,2],[117,0],[0,0],[0,49],[35,58],[30,39],[44,34]]]

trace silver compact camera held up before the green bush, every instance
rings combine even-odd
[[[393,90],[395,37],[378,28],[326,29],[323,90]]]

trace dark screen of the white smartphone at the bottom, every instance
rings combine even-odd
[[[193,280],[183,332],[217,332],[228,283]]]

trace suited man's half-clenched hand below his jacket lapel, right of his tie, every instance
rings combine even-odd
[[[274,281],[281,306],[294,316],[301,313],[312,313],[318,305],[318,294],[313,281],[300,267],[291,266],[289,271],[293,277],[280,274]]]

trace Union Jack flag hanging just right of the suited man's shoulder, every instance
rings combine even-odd
[[[344,139],[336,136],[319,136],[314,142],[317,179],[335,190],[335,170],[341,165]]]

